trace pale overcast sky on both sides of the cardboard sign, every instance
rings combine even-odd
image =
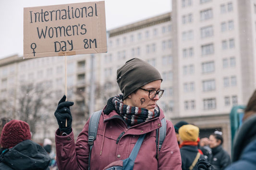
[[[0,58],[23,56],[23,8],[96,0],[0,0]],[[105,0],[107,30],[171,11],[171,0]]]

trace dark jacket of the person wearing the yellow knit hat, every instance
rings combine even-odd
[[[186,145],[181,147],[181,157],[182,157],[182,170],[189,170],[195,160],[196,154],[198,153],[197,146]],[[203,155],[200,155],[199,159],[204,159]],[[197,170],[197,163],[195,164],[193,170]]]

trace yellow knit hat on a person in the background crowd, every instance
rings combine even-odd
[[[199,136],[199,128],[194,125],[183,125],[179,129],[179,136],[183,141],[196,142]]]

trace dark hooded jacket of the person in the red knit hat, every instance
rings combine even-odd
[[[43,147],[24,140],[0,155],[0,170],[47,170],[50,157]]]

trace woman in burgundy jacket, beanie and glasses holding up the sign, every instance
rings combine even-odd
[[[76,143],[71,127],[73,102],[65,102],[63,96],[55,111],[59,125],[55,135],[59,169],[106,170],[113,166],[124,169],[129,164],[129,169],[134,170],[181,170],[174,127],[171,121],[163,119],[164,113],[157,105],[164,92],[160,89],[161,82],[158,70],[147,62],[138,58],[127,61],[117,70],[122,94],[108,100],[98,112],[99,120],[89,118]],[[95,122],[98,124],[90,126]],[[165,129],[161,145],[160,129]],[[92,131],[95,137],[91,136]],[[134,163],[127,163],[134,146],[138,151]]]

